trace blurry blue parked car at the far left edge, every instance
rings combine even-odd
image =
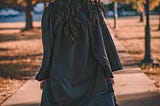
[[[17,10],[14,10],[12,8],[4,8],[4,9],[0,9],[0,17],[14,17],[19,15],[20,12]]]

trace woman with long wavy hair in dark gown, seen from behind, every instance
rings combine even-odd
[[[98,10],[90,0],[55,0],[45,9],[41,106],[115,106]]]

